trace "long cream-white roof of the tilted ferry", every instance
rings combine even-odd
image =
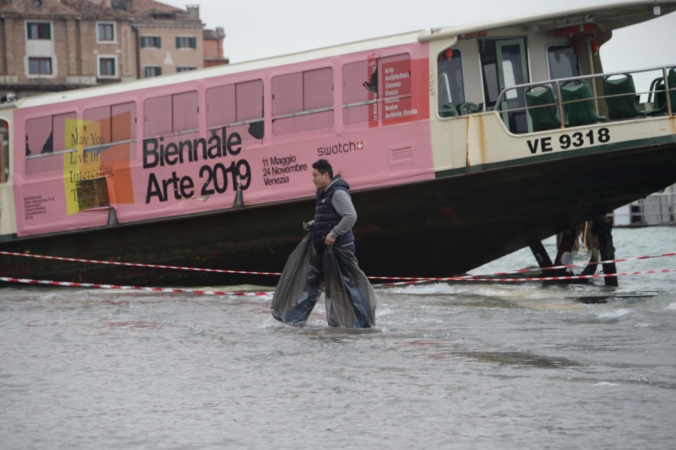
[[[483,30],[504,30],[510,27],[520,27],[525,28],[529,32],[542,32],[561,27],[569,27],[572,25],[594,23],[603,31],[611,31],[658,17],[658,15],[653,12],[653,8],[656,6],[661,8],[661,15],[672,13],[676,11],[676,0],[612,1],[596,6],[585,6],[583,8],[562,8],[558,11],[552,11],[550,13],[519,15],[513,18],[487,20],[485,22],[472,23],[468,25],[457,25],[437,28],[434,30],[418,30],[401,34],[393,34],[390,36],[364,39],[362,41],[355,41],[347,44],[338,44],[322,49],[289,53],[284,56],[274,56],[271,58],[244,61],[242,63],[220,65],[213,68],[204,68],[200,70],[192,70],[189,72],[163,75],[162,77],[136,79],[129,82],[108,84],[106,86],[92,86],[90,88],[78,89],[75,91],[62,91],[54,94],[44,94],[41,96],[21,98],[15,103],[15,107],[29,108],[36,105],[88,98],[90,96],[114,94],[124,91],[136,91],[138,89],[146,89],[151,86],[176,84],[196,79],[206,79],[232,73],[246,72],[249,70],[258,70],[279,65],[300,63],[307,60],[313,60],[315,58],[327,58],[342,53],[367,51],[376,47],[410,44],[415,41],[434,41],[437,39],[446,39],[449,37],[456,37],[461,34],[480,32]]]

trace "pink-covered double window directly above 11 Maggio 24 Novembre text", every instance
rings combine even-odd
[[[273,134],[333,126],[333,70],[321,68],[272,79]]]

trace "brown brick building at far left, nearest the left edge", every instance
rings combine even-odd
[[[0,84],[24,95],[136,77],[132,17],[89,1],[0,7]]]

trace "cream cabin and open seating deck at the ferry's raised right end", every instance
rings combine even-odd
[[[437,57],[439,116],[499,110],[508,129],[522,134],[669,113],[676,94],[665,95],[665,85],[676,88],[675,68],[603,72],[599,50],[613,30],[670,12],[635,3],[507,27],[433,30],[421,40],[457,36]],[[639,74],[651,84],[637,87]]]

